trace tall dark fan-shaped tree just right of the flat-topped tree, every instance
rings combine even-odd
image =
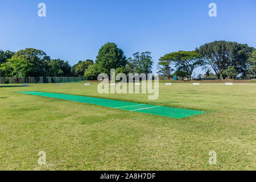
[[[222,72],[229,66],[234,66],[237,72],[246,75],[246,61],[253,47],[236,42],[215,41],[196,48],[196,51],[204,58],[205,65],[209,65],[220,79]]]

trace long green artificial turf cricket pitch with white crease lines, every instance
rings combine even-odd
[[[192,115],[205,113],[205,111],[199,111],[199,110],[177,109],[174,107],[138,104],[133,102],[123,102],[123,101],[115,101],[115,100],[108,100],[103,98],[84,97],[84,96],[73,96],[68,94],[57,94],[57,93],[47,93],[47,92],[19,92],[19,93],[30,94],[34,96],[59,98],[61,100],[82,102],[86,104],[112,107],[114,109],[135,111],[139,113],[162,115],[162,116],[171,117],[171,118],[185,118],[185,117],[190,117]]]

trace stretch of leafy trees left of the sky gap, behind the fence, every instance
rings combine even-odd
[[[96,60],[79,61],[71,66],[68,61],[51,59],[46,52],[26,48],[17,52],[0,51],[0,77],[39,77],[39,76],[86,76],[97,80],[100,73],[151,73],[153,65],[151,52],[136,52],[126,58],[122,49],[115,43],[106,43],[98,51]]]

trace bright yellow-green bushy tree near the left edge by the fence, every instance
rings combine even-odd
[[[30,61],[22,58],[8,59],[8,62],[1,64],[1,69],[8,73],[6,76],[27,77],[31,70]]]

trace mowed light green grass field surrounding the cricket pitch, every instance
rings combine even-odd
[[[0,170],[255,170],[256,84],[160,83],[99,94],[97,83],[0,85]],[[175,119],[30,96],[39,91],[208,111]],[[38,164],[45,151],[47,165]],[[217,164],[209,165],[216,151]]]

